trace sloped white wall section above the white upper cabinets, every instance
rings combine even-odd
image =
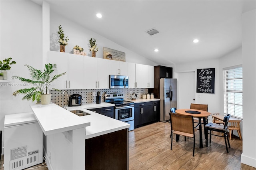
[[[146,65],[157,65],[153,61],[146,59],[145,57],[138,55],[117,43],[114,43],[84,27],[81,25],[67,20],[59,14],[50,11],[50,50],[60,51],[60,44],[58,43],[58,26],[61,25],[64,31],[64,36],[68,36],[68,45],[65,46],[65,52],[73,53],[72,49],[75,45],[79,45],[84,49],[86,55],[92,56],[89,50],[89,40],[91,38],[96,39],[96,44],[98,47],[98,52],[96,52],[96,57],[103,58],[103,47],[108,47],[118,51],[125,52],[126,62],[130,63],[140,63]]]

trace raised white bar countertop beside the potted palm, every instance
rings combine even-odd
[[[65,132],[90,126],[90,121],[50,103],[49,105],[30,105],[45,135]]]

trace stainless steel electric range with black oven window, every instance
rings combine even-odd
[[[105,94],[104,102],[114,104],[115,119],[129,123],[129,131],[134,130],[134,102],[125,101],[122,93]]]

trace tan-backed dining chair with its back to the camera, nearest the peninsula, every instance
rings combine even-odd
[[[173,134],[188,136],[194,138],[193,146],[193,156],[195,152],[195,128],[193,116],[180,115],[175,113],[169,113],[171,121],[171,138]],[[171,150],[172,150],[172,140],[171,140]]]

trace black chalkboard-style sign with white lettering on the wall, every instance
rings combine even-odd
[[[214,94],[215,68],[197,69],[196,93]]]

